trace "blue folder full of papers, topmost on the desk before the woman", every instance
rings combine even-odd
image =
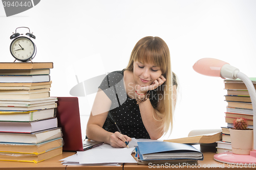
[[[141,160],[203,160],[203,153],[189,144],[164,141],[138,142],[138,154]]]

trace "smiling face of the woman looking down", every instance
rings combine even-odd
[[[134,80],[140,86],[149,86],[162,75],[160,67],[150,63],[135,61],[133,68]]]

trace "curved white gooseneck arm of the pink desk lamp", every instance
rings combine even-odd
[[[238,72],[237,78],[241,79],[250,95],[253,113],[253,150],[256,150],[256,92],[251,80],[242,72]]]

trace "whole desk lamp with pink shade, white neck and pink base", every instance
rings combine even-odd
[[[212,77],[221,77],[223,79],[241,79],[246,88],[248,89],[253,112],[253,127],[256,127],[256,92],[251,80],[238,68],[231,66],[230,64],[214,59],[214,58],[203,58],[198,60],[193,69],[199,74]],[[232,154],[232,152],[224,152],[216,154],[214,159],[223,163],[235,163],[235,164],[256,164],[256,130],[253,131],[253,151],[250,155],[238,155]]]

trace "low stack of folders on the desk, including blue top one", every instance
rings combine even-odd
[[[139,164],[170,163],[192,165],[197,164],[198,160],[203,160],[202,152],[189,144],[183,143],[165,141],[138,142],[135,151],[135,157]]]

